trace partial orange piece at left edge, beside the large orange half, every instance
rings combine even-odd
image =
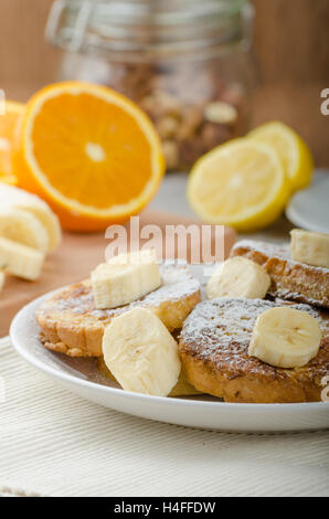
[[[13,172],[12,153],[17,139],[17,127],[25,105],[14,100],[3,102],[0,106],[0,181],[17,183]]]

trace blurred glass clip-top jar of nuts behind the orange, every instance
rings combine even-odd
[[[246,0],[56,0],[60,80],[126,94],[156,124],[169,170],[246,130],[254,74]]]

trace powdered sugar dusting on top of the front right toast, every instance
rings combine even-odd
[[[217,298],[199,304],[183,325],[180,335],[181,347],[202,361],[210,361],[234,375],[242,375],[246,372],[267,374],[273,372],[276,377],[287,374],[287,370],[265,364],[247,354],[256,318],[267,309],[277,306],[291,306],[317,318],[328,348],[329,319],[327,315],[309,305],[291,304],[279,299],[269,301],[243,298]],[[328,370],[329,356],[327,368],[322,366],[322,372],[326,374]]]

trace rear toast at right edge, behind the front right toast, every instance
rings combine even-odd
[[[234,256],[245,256],[267,271],[270,296],[329,308],[329,268],[294,262],[288,245],[243,240],[232,248]]]

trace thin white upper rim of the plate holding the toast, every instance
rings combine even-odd
[[[66,285],[67,286],[67,285]],[[125,391],[121,389],[117,388],[110,388],[107,385],[98,384],[96,382],[92,382],[89,380],[84,380],[75,377],[74,374],[66,373],[62,371],[60,368],[55,369],[49,366],[46,362],[38,359],[33,353],[29,351],[29,349],[24,346],[22,346],[17,337],[18,333],[18,327],[20,324],[20,320],[22,318],[29,318],[31,319],[31,316],[29,315],[30,311],[38,308],[38,305],[40,306],[41,303],[51,297],[53,294],[56,292],[63,289],[57,288],[55,290],[51,290],[43,296],[40,296],[32,301],[30,301],[28,305],[23,306],[14,316],[14,318],[11,321],[10,330],[9,330],[9,337],[11,340],[11,343],[14,348],[14,350],[31,366],[34,366],[36,369],[41,370],[42,372],[46,373],[47,375],[51,375],[52,378],[64,380],[65,382],[68,382],[71,384],[79,385],[83,388],[89,388],[92,390],[96,390],[99,392],[104,393],[109,393],[113,394],[114,396],[117,395],[120,399],[124,399],[126,401],[135,401],[135,402],[144,402],[144,403],[152,403],[152,404],[166,404],[170,405],[172,407],[197,407],[199,410],[206,407],[208,410],[220,410],[220,409],[225,409],[225,410],[236,410],[237,412],[245,412],[245,411],[268,411],[269,409],[273,409],[275,411],[282,411],[282,412],[297,412],[297,411],[316,411],[316,410],[323,410],[327,406],[329,406],[329,402],[298,402],[298,403],[236,403],[236,402],[206,402],[206,401],[198,401],[198,400],[188,400],[185,398],[167,398],[167,396],[156,396],[156,395],[148,395],[148,394],[142,394],[142,393],[134,393],[131,391]],[[29,337],[28,337],[29,340]],[[42,345],[40,343],[40,347]]]

